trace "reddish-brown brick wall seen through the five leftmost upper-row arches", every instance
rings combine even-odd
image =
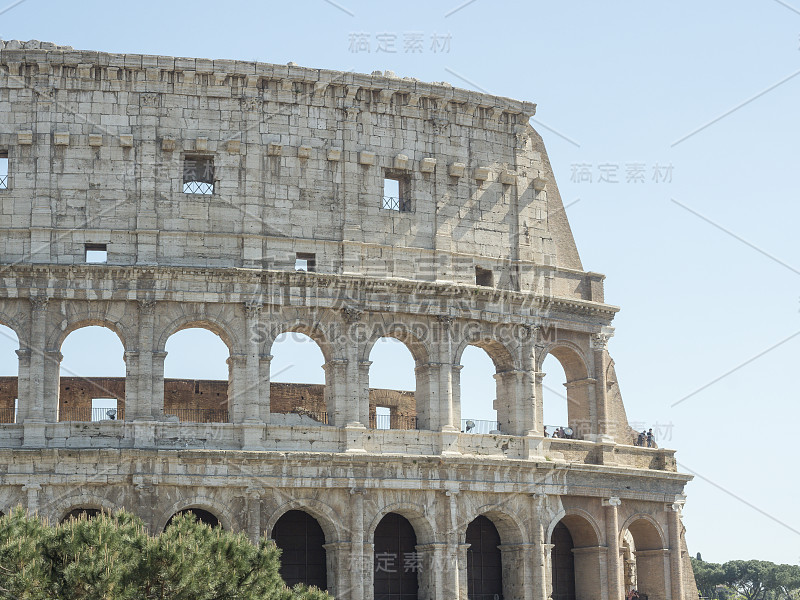
[[[0,377],[0,419],[13,411],[17,397],[17,378]],[[62,377],[59,392],[59,412],[68,409],[88,409],[92,398],[116,398],[118,407],[125,406],[124,377]],[[271,383],[271,410],[290,413],[296,408],[310,412],[325,412],[325,386],[305,383]],[[371,389],[370,414],[376,406],[392,409],[392,414],[417,414],[414,392]],[[165,379],[164,408],[224,409],[228,405],[228,382],[208,379]]]

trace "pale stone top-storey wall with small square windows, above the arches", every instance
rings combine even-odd
[[[534,104],[411,78],[27,45],[0,50],[3,262],[83,263],[105,244],[109,264],[294,269],[302,253],[326,273],[603,300]],[[187,178],[213,193],[185,193]],[[389,208],[385,178],[400,188]]]

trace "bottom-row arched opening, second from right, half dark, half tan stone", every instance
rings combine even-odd
[[[550,536],[552,600],[599,600],[601,552],[592,524],[580,515],[567,515]]]

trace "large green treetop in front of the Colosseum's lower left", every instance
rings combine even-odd
[[[21,508],[0,518],[2,600],[332,600],[288,588],[280,550],[211,528],[192,515],[157,536],[120,512],[56,526]]]

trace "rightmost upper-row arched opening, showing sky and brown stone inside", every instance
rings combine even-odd
[[[536,395],[543,399],[542,416],[544,425],[548,426],[547,434],[574,439],[596,434],[597,423],[590,402],[592,382],[583,357],[571,346],[555,346],[544,357],[540,373]],[[555,376],[555,381],[550,374]]]

